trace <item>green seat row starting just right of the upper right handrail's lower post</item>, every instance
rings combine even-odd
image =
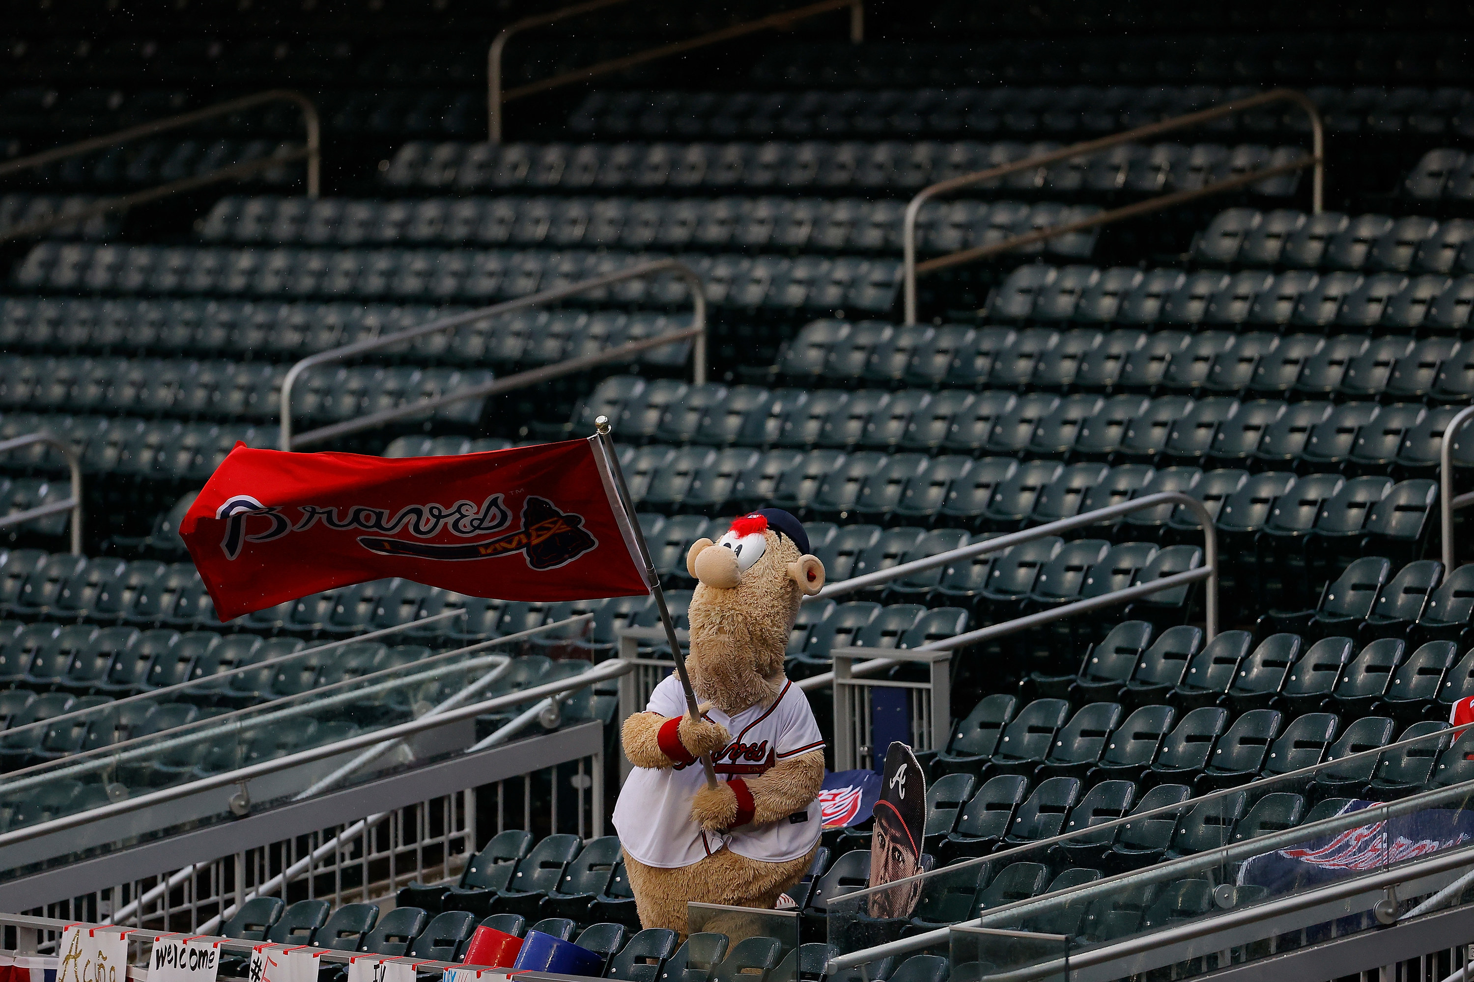
[[[1474,252],[1461,247],[1458,255]],[[985,312],[1001,321],[1450,333],[1468,327],[1474,308],[1474,272],[1464,265],[1459,272],[1187,272],[1035,262],[1008,274]]]

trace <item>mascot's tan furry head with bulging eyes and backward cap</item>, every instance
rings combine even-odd
[[[716,542],[691,543],[685,570],[697,580],[685,661],[696,693],[728,716],[771,701],[799,602],[824,589],[803,526],[778,508],[741,515]]]

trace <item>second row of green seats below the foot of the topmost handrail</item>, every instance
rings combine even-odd
[[[208,243],[268,246],[476,244],[618,249],[794,249],[895,252],[899,200],[815,197],[433,197],[382,202],[223,197],[200,227]],[[917,243],[952,252],[1092,216],[1095,206],[960,200],[921,212]],[[1033,252],[1088,258],[1098,230]]]

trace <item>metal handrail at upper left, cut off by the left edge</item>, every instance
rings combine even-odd
[[[81,222],[97,215],[125,211],[137,205],[155,202],[161,197],[180,194],[183,191],[193,191],[198,187],[246,177],[249,174],[255,174],[256,171],[270,171],[271,168],[282,166],[283,163],[293,163],[302,159],[307,160],[307,196],[317,197],[321,190],[323,169],[321,124],[317,118],[317,106],[312,105],[312,100],[290,88],[273,88],[254,96],[242,96],[240,99],[215,103],[214,106],[205,106],[203,109],[181,112],[165,119],[155,119],[153,122],[139,124],[137,127],[128,127],[127,130],[118,130],[116,133],[80,140],[78,143],[69,143],[63,147],[53,147],[50,150],[43,150],[41,153],[18,158],[15,160],[0,163],[0,177],[38,168],[55,160],[78,156],[81,153],[91,153],[93,150],[102,150],[103,147],[116,146],[119,143],[128,143],[130,140],[137,140],[140,137],[152,137],[159,133],[168,133],[170,130],[178,130],[180,127],[187,127],[203,119],[228,116],[233,112],[252,109],[270,102],[289,102],[302,110],[302,122],[307,128],[307,146],[301,150],[261,158],[258,160],[233,163],[230,166],[220,168],[218,171],[211,171],[209,174],[170,181],[168,184],[159,184],[158,187],[150,187],[144,191],[136,191],[133,194],[124,194],[122,197],[105,199],[88,205],[87,208],[80,208],[75,212],[52,215],[50,218],[41,218],[34,222],[27,222],[25,225],[16,225],[15,228],[0,231],[0,241],[34,236],[56,225],[71,225],[72,222]]]

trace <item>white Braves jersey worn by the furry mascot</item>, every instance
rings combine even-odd
[[[685,716],[685,693],[675,674],[650,693],[650,713]],[[769,708],[761,705],[727,716],[718,708],[706,718],[721,723],[731,742],[712,755],[718,780],[756,777],[778,761],[824,748],[809,699],[792,682]],[[706,785],[700,761],[671,769],[635,767],[615,805],[615,830],[625,852],[665,869],[690,866],[721,848],[765,863],[783,863],[808,854],[820,841],[820,802],[768,824],[744,824],[727,835],[706,832],[691,819],[691,798]]]

